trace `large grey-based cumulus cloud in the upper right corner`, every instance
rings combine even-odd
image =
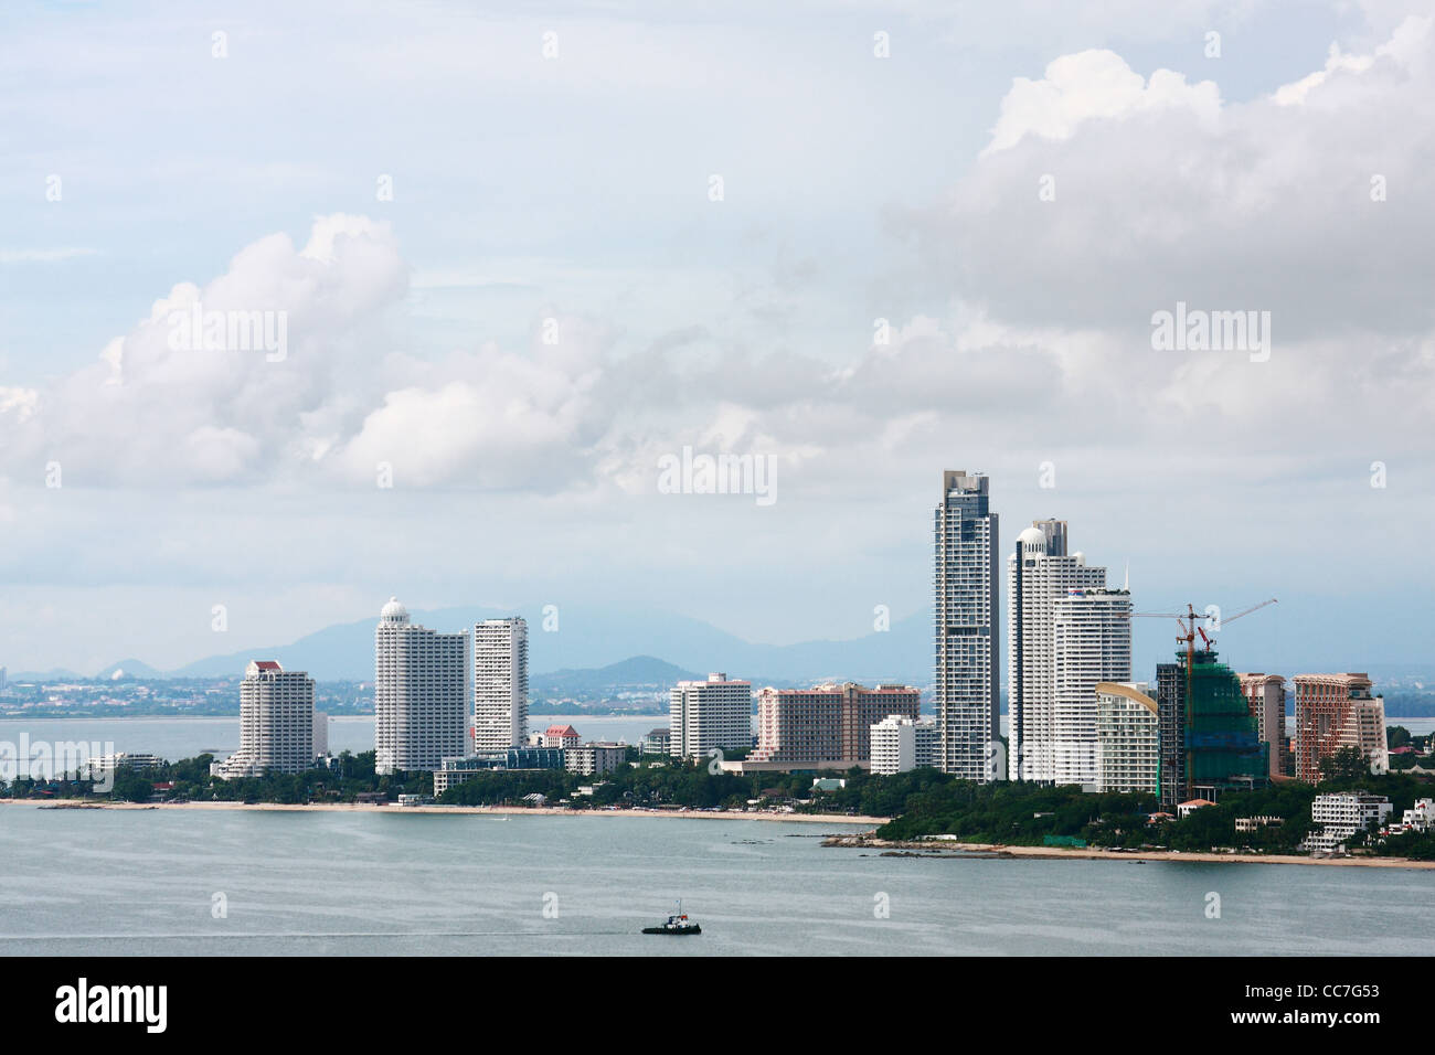
[[[1409,19],[1270,96],[1157,90],[1109,53],[1019,82],[992,142],[910,230],[937,281],[992,317],[1139,344],[1184,300],[1269,310],[1277,340],[1435,326],[1435,33]],[[1069,62],[1068,62],[1069,60]],[[1042,189],[1050,188],[1043,200]]]

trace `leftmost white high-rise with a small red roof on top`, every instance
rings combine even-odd
[[[314,765],[314,680],[273,659],[251,660],[240,682],[240,749],[217,777],[298,774]]]

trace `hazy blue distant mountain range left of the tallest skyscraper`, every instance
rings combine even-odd
[[[931,616],[927,613],[895,620],[891,630],[881,633],[798,644],[753,644],[710,623],[667,611],[614,613],[565,606],[552,630],[544,629],[540,606],[518,611],[456,607],[409,613],[415,623],[443,632],[514,614],[528,620],[530,688],[534,695],[670,685],[684,677],[703,677],[712,670],[778,686],[831,679],[901,682],[921,688],[931,680]],[[238,677],[251,659],[277,659],[287,669],[307,670],[317,680],[366,682],[373,677],[376,623],[376,617],[339,623],[290,644],[208,656],[175,670],[156,670],[144,660],[126,659],[110,663],[96,676],[113,677],[119,672],[121,677],[142,679]],[[60,680],[79,676],[67,670],[46,670],[14,673],[11,679]]]

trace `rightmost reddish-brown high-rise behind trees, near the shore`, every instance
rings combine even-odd
[[[1320,782],[1320,762],[1359,748],[1372,771],[1389,768],[1385,699],[1365,673],[1296,675],[1296,778]]]

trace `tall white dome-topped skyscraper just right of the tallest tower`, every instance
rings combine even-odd
[[[1007,774],[1012,779],[1046,784],[1056,779],[1052,604],[1068,590],[1105,584],[1106,568],[1088,566],[1079,553],[1066,554],[1066,521],[1038,520],[1016,537],[1016,551],[1006,558]]]

